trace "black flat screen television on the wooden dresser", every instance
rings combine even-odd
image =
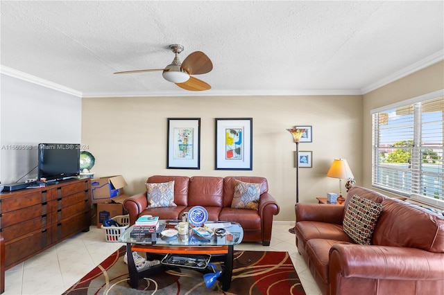
[[[63,180],[80,174],[80,144],[40,143],[37,179]]]

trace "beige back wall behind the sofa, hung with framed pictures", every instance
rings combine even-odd
[[[96,176],[123,175],[128,195],[143,192],[150,175],[262,176],[280,205],[275,220],[294,221],[296,145],[285,130],[294,125],[313,126],[313,143],[299,145],[313,152],[313,168],[299,170],[300,202],[339,193],[339,180],[325,176],[334,158],[347,159],[362,183],[361,96],[83,98],[82,108]],[[253,118],[253,170],[214,170],[214,118],[244,117]],[[201,118],[200,170],[166,168],[167,118]]]

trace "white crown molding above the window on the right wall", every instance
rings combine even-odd
[[[397,71],[391,75],[388,75],[386,78],[382,78],[381,80],[378,80],[378,81],[374,82],[373,84],[370,84],[370,85],[362,88],[361,93],[366,94],[370,91],[373,91],[375,89],[383,87],[386,84],[390,84],[391,82],[394,82],[396,80],[400,80],[400,78],[404,78],[405,76],[410,75],[411,73],[415,73],[417,71],[425,69],[427,66],[431,66],[432,64],[436,64],[437,62],[441,62],[442,60],[444,60],[444,50],[438,51],[437,53],[434,53],[434,54],[430,55],[429,57],[425,57],[424,59],[422,59],[418,62],[415,62],[414,64],[411,64],[410,66],[407,66],[400,71]]]

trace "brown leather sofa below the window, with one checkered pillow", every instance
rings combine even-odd
[[[343,231],[353,195],[382,203],[370,245]],[[444,217],[367,188],[345,206],[298,204],[296,245],[323,294],[443,294]]]

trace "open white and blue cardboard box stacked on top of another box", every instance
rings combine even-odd
[[[127,184],[121,175],[92,179],[92,203],[110,203],[114,197],[123,193],[124,186]]]

